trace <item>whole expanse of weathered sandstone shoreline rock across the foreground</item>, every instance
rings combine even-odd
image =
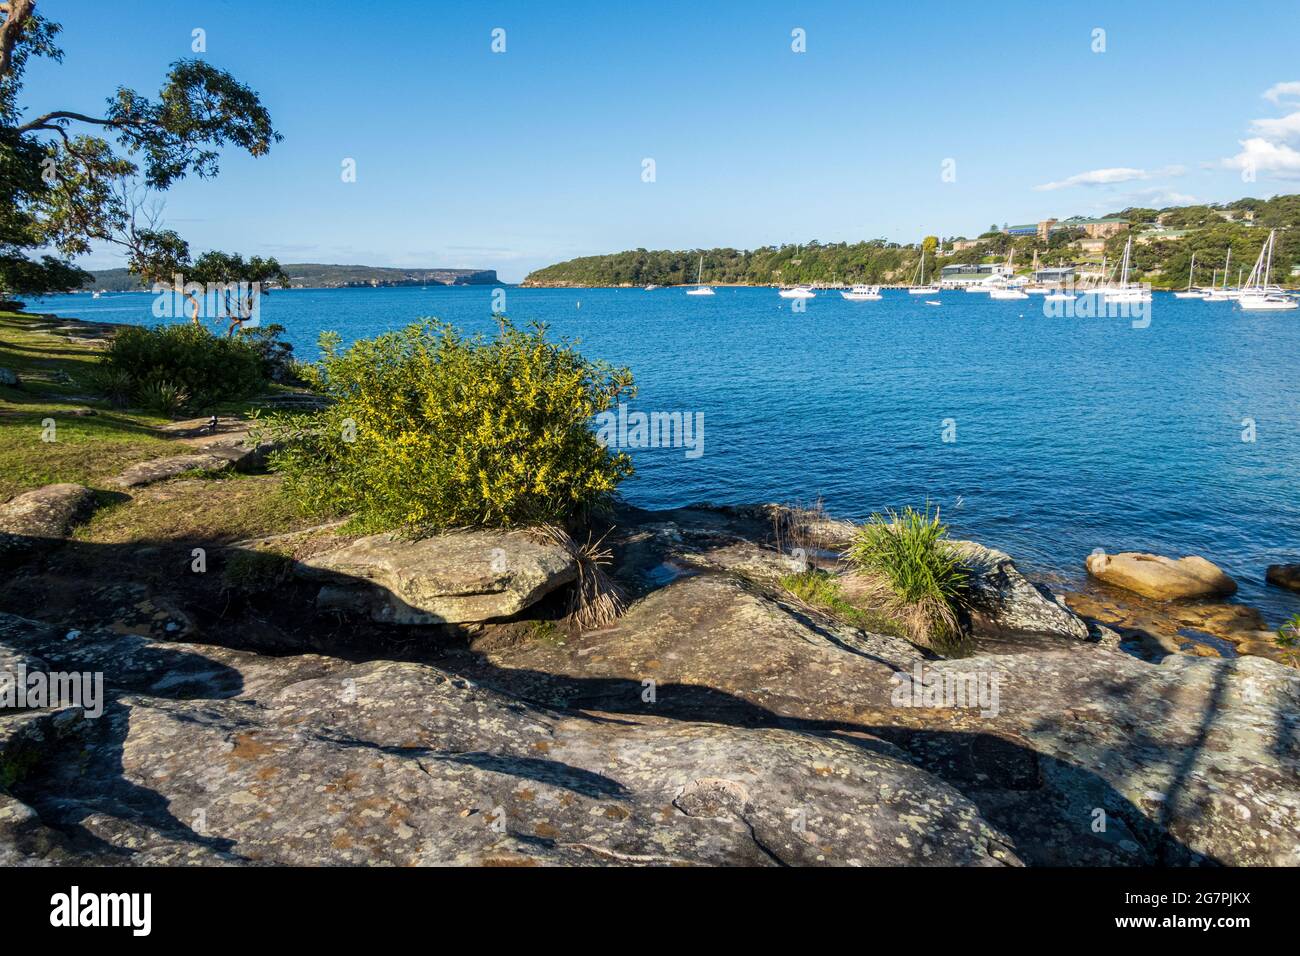
[[[983,549],[976,648],[941,659],[784,593],[768,509],[614,524],[630,606],[586,632],[526,536],[389,571],[332,528],[209,575],[157,574],[185,541],[35,551],[0,648],[108,701],[0,715],[0,861],[1300,862],[1295,669],[1144,659]]]

